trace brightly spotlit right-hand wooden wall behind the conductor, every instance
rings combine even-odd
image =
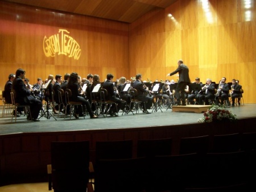
[[[210,0],[207,6],[209,9],[206,11],[200,1],[180,0],[167,7],[164,14],[165,67],[158,70],[170,73],[177,68],[177,60],[183,59],[189,67],[191,81],[195,81],[195,77],[200,77],[201,82],[205,82],[206,78],[216,82],[221,77],[226,77],[227,82],[236,78],[246,90],[243,94],[245,103],[256,103],[253,97],[255,91],[249,89],[249,81],[255,81],[255,74],[251,70],[256,65],[256,55],[253,51],[253,31],[256,30],[255,1],[252,1],[250,8],[245,7],[245,1],[238,0]],[[250,18],[246,18],[248,10],[251,12]],[[173,17],[168,17],[168,14],[172,14]],[[151,36],[155,36],[156,39],[158,37],[147,30],[155,26],[148,22],[149,15],[150,13],[130,24],[130,72],[138,65],[137,70],[141,68],[141,65],[138,62],[136,65],[134,61],[141,58],[147,60],[145,57],[148,57],[148,53],[141,52],[143,43],[152,40]],[[145,34],[143,42],[141,34]],[[151,46],[153,45],[152,43]],[[148,67],[152,69],[150,64]],[[147,67],[143,65],[143,69],[146,70]],[[158,79],[162,78],[160,76]],[[150,78],[155,77],[151,74]],[[171,80],[176,76],[165,78]]]

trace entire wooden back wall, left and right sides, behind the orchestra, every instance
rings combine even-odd
[[[250,7],[243,0],[179,0],[128,24],[0,2],[0,90],[18,68],[30,84],[71,72],[99,74],[101,81],[108,73],[114,80],[137,73],[176,80],[166,74],[183,59],[191,81],[238,79],[245,103],[256,103],[255,6],[255,0]]]

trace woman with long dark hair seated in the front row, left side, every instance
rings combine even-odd
[[[86,106],[87,111],[89,112],[90,118],[95,119],[98,118],[98,116],[94,115],[94,112],[92,111],[92,108],[90,108],[90,103],[85,98],[81,97],[79,94],[79,75],[77,73],[71,73],[69,76],[69,81],[67,85],[67,89],[70,89],[72,92],[71,101],[75,102],[81,102],[82,106]],[[81,107],[75,108],[75,113],[73,114],[76,119],[79,119],[79,114],[81,114]]]

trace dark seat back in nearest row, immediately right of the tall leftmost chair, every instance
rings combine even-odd
[[[95,173],[95,192],[141,192],[146,188],[145,158],[100,160]]]

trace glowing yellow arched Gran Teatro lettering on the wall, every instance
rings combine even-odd
[[[44,36],[43,49],[47,57],[54,57],[55,53],[58,55],[66,55],[79,60],[81,56],[81,48],[73,37],[68,35],[67,30],[59,30],[58,34],[50,37]]]

